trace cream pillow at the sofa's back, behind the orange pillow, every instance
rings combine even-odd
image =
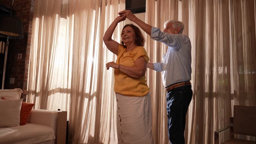
[[[0,90],[0,99],[2,97],[7,99],[20,99],[22,90],[20,88],[15,89],[1,89]]]

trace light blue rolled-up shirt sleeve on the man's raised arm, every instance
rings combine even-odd
[[[150,37],[153,40],[162,42],[165,45],[174,48],[175,50],[179,50],[181,48],[181,43],[184,41],[186,36],[183,34],[169,34],[161,32],[159,28],[152,27]]]

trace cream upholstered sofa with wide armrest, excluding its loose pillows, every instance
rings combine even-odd
[[[26,125],[0,128],[0,144],[65,144],[66,124],[66,111],[32,109]]]

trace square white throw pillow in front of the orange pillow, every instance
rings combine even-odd
[[[12,127],[20,124],[22,100],[0,100],[0,127]]]

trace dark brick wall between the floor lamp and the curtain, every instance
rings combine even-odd
[[[12,0],[1,0],[0,4],[11,8]],[[9,40],[4,89],[21,88],[21,97],[26,101],[34,0],[15,0],[13,10],[22,20],[24,39]],[[17,59],[18,54],[22,54],[21,59]],[[15,78],[14,84],[9,84],[10,78]]]

